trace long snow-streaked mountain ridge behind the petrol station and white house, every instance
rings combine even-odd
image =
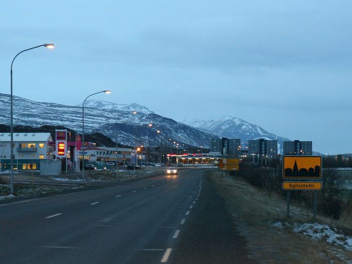
[[[13,97],[15,125],[65,126],[81,132],[82,108],[55,103],[35,102],[21,97]],[[134,108],[136,107],[136,108]],[[10,123],[10,96],[0,94],[0,123]],[[137,111],[137,114],[131,113]],[[153,127],[148,126],[149,123]],[[161,133],[156,133],[160,130]],[[101,132],[123,145],[148,144],[159,146],[168,139],[186,146],[210,147],[210,140],[217,135],[160,116],[137,104],[117,105],[91,100],[84,104],[85,133]]]

